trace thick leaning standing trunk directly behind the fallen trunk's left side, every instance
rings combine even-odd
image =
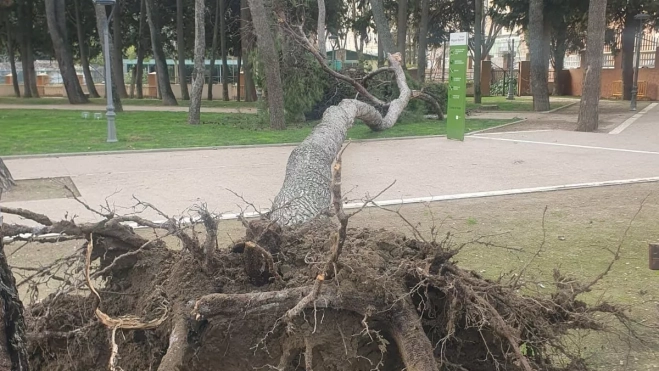
[[[249,9],[252,14],[256,43],[259,56],[265,69],[265,80],[268,95],[268,109],[270,113],[270,127],[276,130],[286,128],[284,119],[284,89],[281,83],[279,69],[279,56],[275,48],[275,40],[270,29],[270,17],[266,13],[263,0],[249,0]]]

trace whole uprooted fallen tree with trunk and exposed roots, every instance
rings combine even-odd
[[[205,207],[187,220],[138,201],[166,220],[154,223],[85,204],[101,219],[87,224],[1,207],[38,224],[3,224],[10,242],[81,241],[15,285],[60,283],[26,310],[30,367],[584,369],[561,338],[572,329],[603,329],[600,313],[627,321],[615,306],[579,300],[608,270],[585,285],[557,272],[551,295],[524,296],[525,269],[507,282],[465,271],[452,262],[462,246],[450,236],[348,228],[363,208],[347,214],[342,206],[346,132],[356,119],[390,128],[413,95],[400,56],[389,62],[400,96],[377,108],[360,100],[329,108],[291,153],[271,211],[243,219],[245,237],[228,248],[218,246],[219,219]],[[180,251],[164,242],[170,236]],[[570,362],[555,365],[556,354]]]

